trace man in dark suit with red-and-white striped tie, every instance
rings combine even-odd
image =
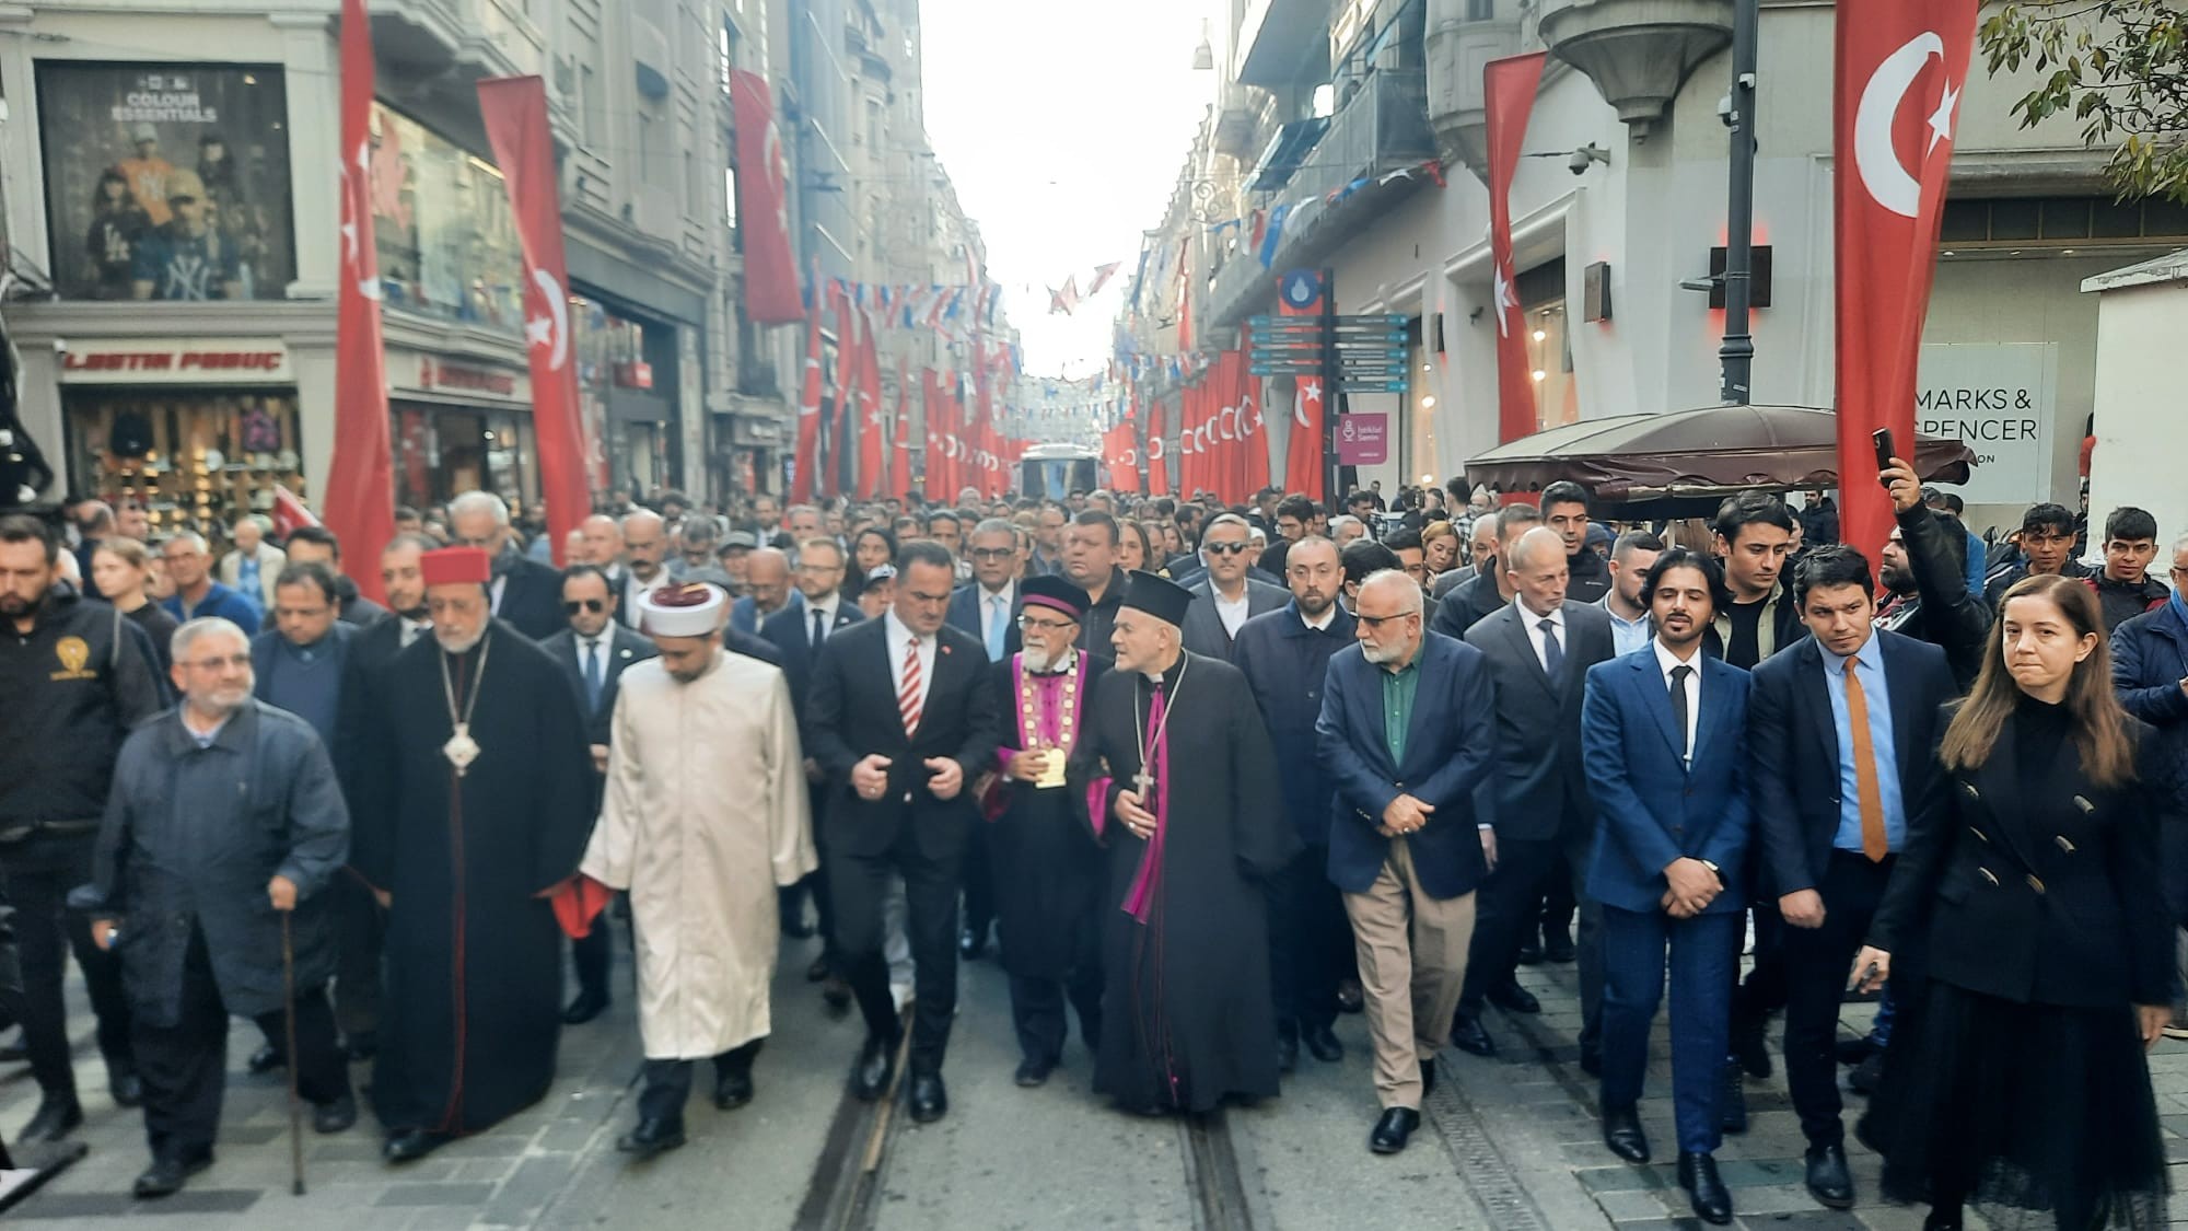
[[[904,1032],[882,959],[882,898],[895,872],[917,970],[910,1104],[921,1124],[950,1108],[941,1069],[956,1012],[958,874],[978,824],[969,786],[1002,736],[987,653],[943,622],[954,583],[947,548],[906,543],[895,607],[829,640],[805,721],[807,751],[829,780],[836,948],[866,1019],[851,1093],[873,1100],[888,1089]]]

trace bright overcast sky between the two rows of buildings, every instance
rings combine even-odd
[[[1028,375],[1083,377],[1162,221],[1217,72],[1192,70],[1221,0],[921,0],[928,138],[987,239]],[[1223,61],[1214,31],[1217,64]],[[1048,287],[1122,261],[1074,315]]]

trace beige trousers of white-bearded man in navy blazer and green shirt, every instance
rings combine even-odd
[[[1394,837],[1374,885],[1346,894],[1346,913],[1361,959],[1376,1100],[1420,1111],[1420,1067],[1451,1040],[1451,1016],[1459,1010],[1475,896],[1427,896],[1413,852]]]

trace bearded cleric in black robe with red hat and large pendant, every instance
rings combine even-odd
[[[569,681],[488,613],[484,552],[427,552],[422,570],[433,637],[374,688],[350,856],[387,902],[372,1102],[392,1163],[547,1093],[562,1027],[549,894],[593,832]]]

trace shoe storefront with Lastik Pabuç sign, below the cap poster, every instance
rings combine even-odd
[[[61,344],[68,491],[136,502],[155,532],[309,497],[289,346],[269,337]]]

